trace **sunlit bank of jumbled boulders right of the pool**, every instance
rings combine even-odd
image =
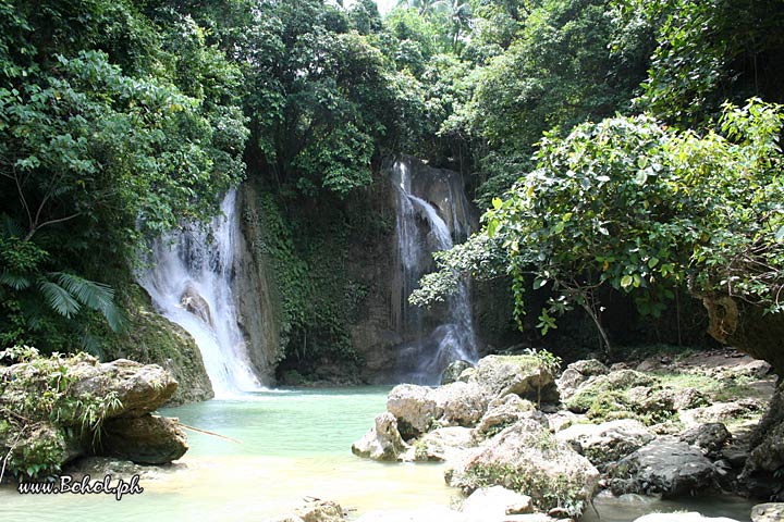
[[[578,361],[560,376],[546,355],[489,356],[437,388],[396,386],[352,450],[445,461],[466,496],[454,520],[479,520],[479,498],[483,521],[578,518],[600,490],[781,499],[784,409],[770,371],[732,351]]]

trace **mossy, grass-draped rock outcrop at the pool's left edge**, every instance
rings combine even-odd
[[[85,353],[40,357],[3,352],[21,362],[0,366],[0,469],[19,481],[58,475],[84,456],[162,464],[187,451],[175,419],[152,412],[177,383],[156,364]]]

